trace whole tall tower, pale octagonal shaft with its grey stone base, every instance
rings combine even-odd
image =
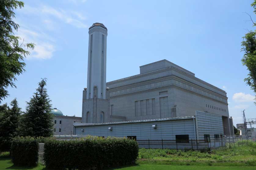
[[[82,122],[109,121],[109,88],[106,88],[107,28],[94,23],[89,28],[87,88],[83,90]]]

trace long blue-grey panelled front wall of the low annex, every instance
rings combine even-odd
[[[156,124],[157,128],[152,128]],[[108,130],[112,127],[112,130]],[[175,139],[175,135],[188,134],[189,139],[195,139],[193,118],[183,120],[163,120],[133,123],[101,124],[75,127],[77,135],[127,137],[137,136],[137,139]],[[81,130],[84,130],[83,132]]]

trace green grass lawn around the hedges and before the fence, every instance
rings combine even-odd
[[[0,153],[0,170],[45,170],[45,166],[16,167],[10,161],[9,152]],[[140,149],[136,165],[112,170],[251,170],[256,169],[256,142],[237,144],[213,150],[211,153],[199,151],[176,151],[168,149]]]

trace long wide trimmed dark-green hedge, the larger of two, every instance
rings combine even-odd
[[[138,157],[138,144],[126,138],[86,137],[75,141],[47,140],[44,160],[48,169],[103,168],[126,165]]]

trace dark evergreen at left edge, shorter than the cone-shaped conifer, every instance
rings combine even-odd
[[[14,99],[9,108],[7,104],[0,106],[0,149],[9,150],[11,140],[16,136],[18,119],[21,113],[18,102]]]

